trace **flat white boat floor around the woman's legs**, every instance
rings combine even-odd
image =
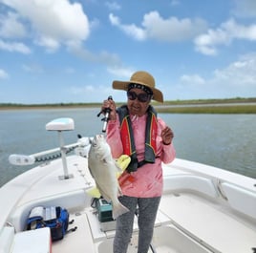
[[[70,243],[73,244],[72,248],[76,253],[85,250],[112,252],[115,231],[102,232],[91,209],[85,209],[73,215],[71,219],[75,219],[71,227],[76,225],[77,230],[67,234],[60,242],[53,242],[53,253],[69,253]],[[137,252],[136,220],[134,227],[135,233],[129,245],[129,253]],[[237,220],[236,216],[220,210],[214,202],[205,202],[201,197],[186,193],[168,194],[162,197],[155,231],[152,244],[160,253],[183,253],[188,250],[190,253],[241,253],[245,252],[245,248],[246,252],[252,253],[252,248],[256,246],[256,231],[252,227]],[[164,233],[163,237],[160,236],[160,231]],[[178,231],[183,236],[179,237],[179,233],[174,231]],[[177,242],[177,240],[181,241]]]

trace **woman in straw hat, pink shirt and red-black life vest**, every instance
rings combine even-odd
[[[138,252],[146,253],[162,194],[161,162],[168,163],[175,158],[174,135],[150,105],[151,99],[163,102],[151,74],[137,72],[129,81],[114,81],[113,88],[127,92],[127,105],[116,109],[114,100],[103,102],[102,110],[111,110],[107,142],[113,158],[123,154],[131,157],[128,168],[118,179],[123,194],[119,200],[130,212],[117,218],[114,253],[127,251],[134,216],[138,213]]]

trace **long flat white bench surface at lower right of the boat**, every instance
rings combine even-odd
[[[256,231],[245,221],[191,193],[163,195],[160,211],[181,231],[213,252],[252,253],[256,245]]]

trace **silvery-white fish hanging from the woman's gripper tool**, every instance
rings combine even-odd
[[[130,210],[118,200],[118,196],[122,195],[117,180],[117,171],[120,168],[112,157],[111,148],[103,135],[96,135],[92,139],[88,154],[88,168],[96,181],[99,193],[112,204],[113,219],[116,220],[118,216],[129,212]]]

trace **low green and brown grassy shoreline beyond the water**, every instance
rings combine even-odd
[[[123,103],[118,102],[117,106]],[[153,102],[161,114],[256,114],[256,97],[225,99],[172,100],[163,104]],[[55,103],[55,104],[16,104],[0,103],[0,110],[19,109],[60,109],[96,108],[101,103]]]

